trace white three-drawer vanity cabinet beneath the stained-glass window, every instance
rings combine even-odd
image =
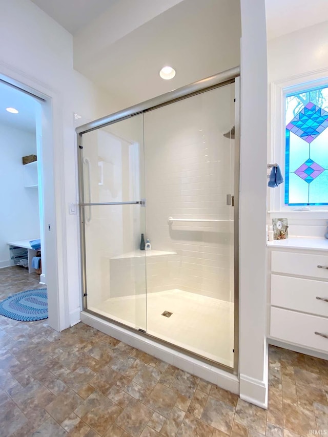
[[[268,244],[269,343],[328,358],[328,240],[290,240]]]

